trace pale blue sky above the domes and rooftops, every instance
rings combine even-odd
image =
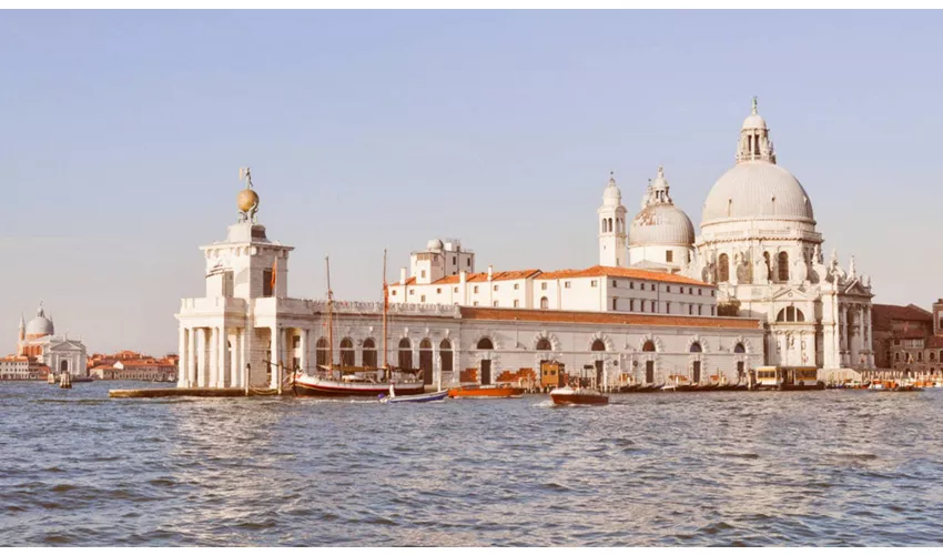
[[[823,252],[943,297],[943,12],[4,11],[0,353],[40,301],[89,352],[174,352],[251,165],[290,294],[381,297],[459,238],[478,270],[598,262],[609,172],[665,165],[697,228],[750,99]],[[3,323],[6,322],[6,324]],[[7,330],[7,332],[3,332]],[[3,333],[8,345],[2,347]]]

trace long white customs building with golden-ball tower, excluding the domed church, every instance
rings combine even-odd
[[[310,372],[326,362],[326,304],[288,295],[293,248],[271,241],[255,223],[257,202],[251,189],[240,193],[240,221],[229,228],[224,241],[202,248],[205,296],[183,299],[176,314],[181,387],[277,389],[280,371],[270,362],[288,372]],[[539,372],[541,361],[562,363],[571,374],[586,372],[609,385],[629,380],[661,383],[672,374],[698,382],[722,375],[732,383],[762,363],[759,320],[710,315],[717,306],[712,285],[601,265],[524,271],[509,273],[507,280],[496,280],[489,271],[472,280],[460,269],[474,270],[470,254],[463,251],[468,254],[463,263],[458,242],[448,245],[445,241],[428,246],[448,256],[454,252],[455,263],[437,265],[433,256],[423,260],[414,253],[413,272],[419,276],[391,286],[391,301],[394,291],[400,292],[399,299],[409,295],[410,286],[439,287],[438,294],[445,295],[446,285],[437,283],[450,280],[449,294],[464,282],[459,293],[468,300],[477,299],[472,287],[478,284],[481,304],[465,296],[462,302],[392,302],[383,345],[381,302],[337,302],[335,364],[375,366],[383,363],[385,349],[392,365],[423,369],[426,383],[447,386],[463,375],[465,381],[491,383],[505,373]],[[416,283],[419,280],[429,283]],[[486,291],[489,300],[497,294],[507,304],[484,304]],[[520,295],[517,307],[510,297],[515,294]],[[418,293],[413,295],[418,300]],[[544,299],[548,305],[552,299],[554,307],[540,309]]]

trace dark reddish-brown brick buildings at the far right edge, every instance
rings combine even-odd
[[[943,374],[943,299],[933,303],[933,312],[914,304],[874,304],[872,312],[879,369]]]

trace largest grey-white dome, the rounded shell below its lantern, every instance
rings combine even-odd
[[[701,226],[723,220],[815,223],[812,201],[791,173],[767,161],[740,162],[721,175],[704,201]]]

